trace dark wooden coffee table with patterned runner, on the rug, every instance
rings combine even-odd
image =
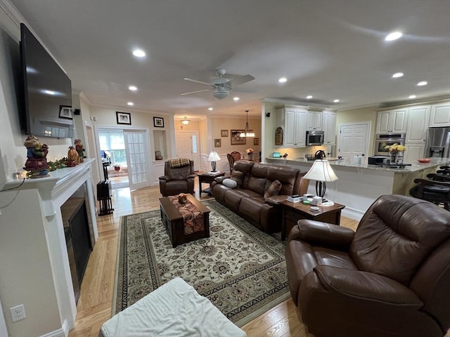
[[[172,247],[176,247],[179,244],[184,244],[203,237],[210,237],[210,209],[204,206],[200,201],[195,199],[192,194],[187,194],[188,201],[191,201],[195,207],[200,209],[203,213],[204,230],[193,232],[192,234],[184,234],[184,220],[183,216],[176,209],[172,201],[169,198],[160,198],[160,212],[161,220],[164,223],[167,234],[169,234]]]

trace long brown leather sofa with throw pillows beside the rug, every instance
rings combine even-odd
[[[303,178],[304,174],[306,172],[288,166],[235,161],[231,178],[240,175],[242,184],[230,188],[221,184],[224,178],[216,178],[211,183],[212,196],[260,230],[278,232],[281,230],[281,209],[276,204],[288,195],[307,192],[309,180]],[[274,180],[281,183],[281,190],[276,196],[264,199]]]

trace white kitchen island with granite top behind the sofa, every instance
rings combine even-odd
[[[266,163],[291,166],[302,172],[309,171],[314,161],[304,159],[266,158]],[[383,194],[409,195],[413,180],[426,178],[439,166],[450,163],[449,158],[432,158],[430,163],[412,163],[404,168],[381,167],[379,165],[354,164],[343,159],[330,160],[338,180],[326,184],[325,198],[345,205],[342,216],[361,220],[373,201]],[[316,195],[316,182],[309,182],[308,193]]]

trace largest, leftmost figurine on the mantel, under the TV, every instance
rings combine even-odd
[[[39,139],[28,136],[23,143],[27,147],[27,161],[23,169],[28,171],[29,178],[44,178],[49,175],[49,164],[47,164],[47,154],[49,146],[39,143]]]

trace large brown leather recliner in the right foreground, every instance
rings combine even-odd
[[[314,336],[434,337],[450,328],[450,212],[400,195],[349,228],[300,220],[285,252],[290,294]]]

